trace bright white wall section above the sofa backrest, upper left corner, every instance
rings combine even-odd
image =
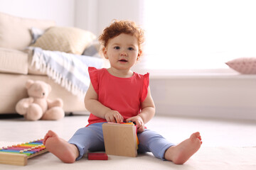
[[[0,0],[0,12],[75,26],[75,0]]]

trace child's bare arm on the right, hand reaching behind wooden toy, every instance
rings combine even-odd
[[[145,100],[142,102],[142,111],[139,115],[134,116],[132,118],[128,118],[126,121],[132,121],[136,123],[138,132],[144,131],[144,124],[148,123],[151,118],[154,117],[155,114],[155,106],[153,98],[151,97],[150,89],[148,89],[148,94]]]

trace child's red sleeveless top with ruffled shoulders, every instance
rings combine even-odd
[[[145,100],[149,87],[149,73],[137,74],[132,77],[114,77],[107,69],[88,68],[90,81],[98,95],[98,101],[108,108],[118,111],[124,120],[138,115],[141,103]],[[92,123],[106,122],[90,114],[89,125]]]

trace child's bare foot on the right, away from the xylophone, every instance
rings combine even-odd
[[[180,144],[169,147],[164,154],[164,158],[174,162],[174,164],[184,164],[201,147],[201,135],[195,132],[187,140]]]

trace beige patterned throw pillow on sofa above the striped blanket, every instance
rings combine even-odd
[[[52,27],[46,30],[33,47],[43,50],[61,51],[81,55],[85,47],[95,40],[96,36],[87,30],[72,27]]]

